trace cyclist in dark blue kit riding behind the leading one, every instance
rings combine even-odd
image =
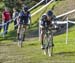
[[[22,11],[19,13],[19,17],[18,17],[18,23],[19,23],[18,30],[17,30],[18,39],[19,39],[21,25],[23,25],[23,27],[25,28],[25,31],[26,31],[29,19],[31,21],[30,12],[28,11],[28,7],[24,6],[24,7],[22,7]],[[25,34],[24,34],[24,37],[25,37]],[[23,41],[24,41],[24,38],[23,38]]]

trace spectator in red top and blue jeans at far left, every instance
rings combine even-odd
[[[5,7],[4,8],[4,11],[2,12],[2,22],[3,23],[6,23],[5,25],[4,25],[4,34],[7,34],[7,31],[8,31],[8,26],[9,26],[9,20],[11,19],[11,14],[10,14],[10,12],[9,12],[9,10],[8,10],[8,8],[7,7]]]

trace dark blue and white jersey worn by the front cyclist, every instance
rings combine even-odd
[[[52,21],[54,23],[52,23]],[[44,28],[44,27],[45,28],[48,28],[48,27],[58,28],[55,15],[52,17],[51,21],[48,21],[47,15],[43,14],[40,21],[39,21],[39,26],[40,26],[40,28]]]

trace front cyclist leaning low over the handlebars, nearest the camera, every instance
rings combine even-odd
[[[41,22],[40,22],[40,29],[41,29],[41,48],[44,49],[44,42],[43,42],[43,38],[44,38],[44,31],[45,31],[45,27],[53,27],[52,25],[52,20],[53,20],[53,12],[51,10],[49,10],[46,14],[44,14],[41,18]],[[53,46],[53,44],[52,44]]]

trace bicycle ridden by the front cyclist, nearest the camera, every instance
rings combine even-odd
[[[48,56],[52,56],[53,53],[53,33],[52,30],[50,28],[46,28],[45,29],[45,33],[44,33],[44,54]]]

